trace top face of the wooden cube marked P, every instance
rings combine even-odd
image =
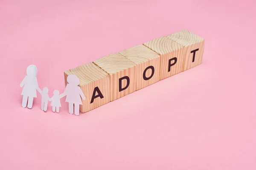
[[[182,45],[171,40],[168,37],[160,37],[160,38],[145,42],[143,45],[157,52],[157,54],[160,54],[160,55],[168,54],[172,51],[182,48]]]

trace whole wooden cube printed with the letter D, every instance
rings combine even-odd
[[[110,101],[136,90],[136,65],[122,54],[110,54],[93,63],[110,75]]]

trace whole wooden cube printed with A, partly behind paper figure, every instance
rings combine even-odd
[[[82,105],[80,105],[82,113],[110,102],[110,76],[98,66],[89,62],[65,71],[65,85],[67,85],[67,76],[70,74],[75,74],[79,78],[79,86],[86,98],[82,99]]]

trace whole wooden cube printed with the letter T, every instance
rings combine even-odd
[[[202,63],[204,53],[204,38],[199,37],[198,35],[187,30],[171,34],[167,37],[184,46],[184,61],[182,71],[188,70],[189,68],[195,67]]]

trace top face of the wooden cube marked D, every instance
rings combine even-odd
[[[108,56],[96,59],[93,61],[94,64],[102,68],[108,74],[116,74],[119,71],[136,66],[134,62],[122,56],[122,54],[114,53]]]

